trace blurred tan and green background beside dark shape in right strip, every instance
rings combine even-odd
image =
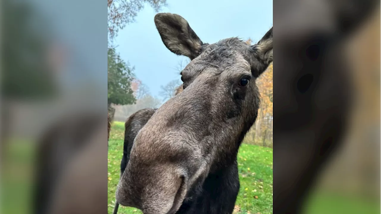
[[[349,129],[343,146],[319,175],[306,213],[381,212],[380,26],[378,6],[346,41],[355,87]]]

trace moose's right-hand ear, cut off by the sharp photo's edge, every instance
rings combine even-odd
[[[272,62],[272,27],[259,40],[251,46],[251,73],[259,77]]]

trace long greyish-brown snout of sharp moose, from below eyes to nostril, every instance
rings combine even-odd
[[[182,105],[183,99],[163,104],[134,139],[130,159],[117,187],[116,199],[123,206],[141,209],[144,214],[173,214],[180,208],[187,189],[203,174],[205,167],[199,133],[186,123],[201,123]],[[181,117],[192,116],[188,120]],[[205,121],[202,121],[205,123]]]

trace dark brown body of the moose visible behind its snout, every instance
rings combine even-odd
[[[174,96],[178,95],[183,90],[183,85],[178,86],[174,91]],[[157,109],[146,108],[138,110],[133,113],[125,123],[124,143],[123,143],[123,156],[120,162],[120,177],[122,177],[124,170],[126,169],[128,160],[130,160],[130,152],[134,142],[134,139],[141,128],[146,125],[149,118],[155,113]],[[113,214],[118,213],[119,204],[115,202]]]

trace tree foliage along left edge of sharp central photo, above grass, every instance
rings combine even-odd
[[[138,12],[148,3],[155,11],[159,11],[166,6],[166,0],[107,0],[108,10],[108,34],[109,49],[107,52],[107,77],[108,77],[108,95],[107,104],[128,105],[134,104],[136,99],[144,97],[147,89],[140,87],[140,90],[134,93],[131,88],[134,80],[134,68],[123,61],[120,55],[112,46],[112,41],[117,36],[120,29],[127,24],[134,22]]]

